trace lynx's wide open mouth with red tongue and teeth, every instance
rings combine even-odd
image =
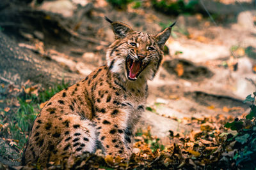
[[[129,80],[137,80],[141,71],[148,66],[149,62],[142,62],[141,60],[132,60],[131,57],[126,58],[126,70]]]

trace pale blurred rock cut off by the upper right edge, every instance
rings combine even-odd
[[[255,13],[255,11],[254,11]],[[244,27],[244,29],[255,29],[252,11],[242,11],[237,16],[237,24]]]

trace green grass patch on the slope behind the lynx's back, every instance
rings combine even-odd
[[[63,80],[60,84],[55,84],[49,89],[39,90],[38,95],[31,94],[30,92],[22,93],[18,97],[19,100],[19,108],[17,111],[13,111],[12,116],[9,117],[10,122],[6,129],[2,131],[2,135],[5,138],[10,138],[16,141],[17,145],[15,148],[22,150],[24,148],[25,143],[27,142],[29,132],[33,126],[33,122],[40,112],[40,104],[44,103],[51,99],[54,94],[60,92],[62,89],[65,89],[69,86],[69,83],[65,83]],[[8,112],[8,114],[10,114]],[[5,113],[5,115],[8,115]],[[4,124],[4,122],[1,122]],[[0,151],[4,152],[4,150]],[[1,154],[1,153],[0,153]]]

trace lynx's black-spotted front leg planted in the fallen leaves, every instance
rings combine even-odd
[[[119,116],[115,117],[115,114],[113,113],[118,114]],[[131,139],[125,136],[125,124],[127,122],[125,118],[127,117],[127,114],[120,113],[118,110],[111,111],[110,114],[110,117],[102,117],[100,124],[97,126],[99,141],[101,142],[106,155],[128,158],[131,156],[132,148],[127,144],[127,142],[131,143]]]

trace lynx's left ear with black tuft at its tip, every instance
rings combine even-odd
[[[107,17],[105,17],[105,19],[112,25],[112,29],[116,35],[116,38],[125,38],[127,33],[132,31],[131,27],[127,24],[122,22],[113,22]]]

